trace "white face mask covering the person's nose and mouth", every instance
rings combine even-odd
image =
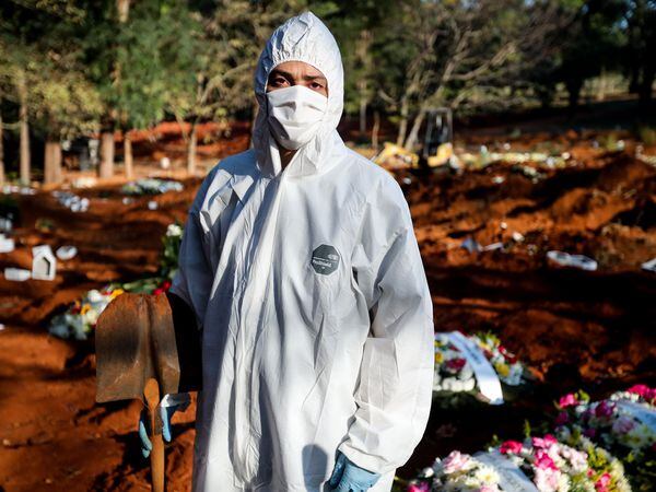
[[[289,150],[300,149],[314,138],[328,108],[328,97],[304,85],[268,92],[267,102],[271,133]]]

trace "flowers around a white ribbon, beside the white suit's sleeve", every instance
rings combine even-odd
[[[460,340],[459,343],[458,340]],[[481,388],[471,361],[471,350],[469,350],[469,354],[462,350],[461,343],[467,341],[470,349],[488,361],[489,367],[491,366],[502,384],[504,394],[508,393],[508,387],[517,387],[527,383],[529,378],[527,370],[494,335],[435,333],[435,376],[433,379],[435,396],[444,396],[452,403],[456,402],[453,398],[454,394],[460,393],[484,399],[481,398]]]

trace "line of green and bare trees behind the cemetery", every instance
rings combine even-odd
[[[0,183],[30,183],[31,141],[44,181],[61,180],[61,141],[99,134],[114,174],[116,130],[131,177],[130,130],[177,120],[196,166],[197,125],[251,119],[251,78],[272,30],[312,9],[336,34],[345,110],[362,133],[380,119],[412,147],[426,112],[572,107],[587,80],[617,73],[648,112],[656,77],[653,0],[5,0],[0,4]],[[367,121],[373,118],[373,125]],[[19,134],[5,163],[2,132]]]

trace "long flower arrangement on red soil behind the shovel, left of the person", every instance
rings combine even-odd
[[[65,313],[55,316],[48,331],[59,338],[86,340],[95,328],[101,313],[118,295],[124,292],[161,294],[168,291],[177,270],[181,237],[183,227],[178,224],[169,224],[162,237],[163,249],[156,277],[127,283],[113,283],[101,290],[89,291]]]

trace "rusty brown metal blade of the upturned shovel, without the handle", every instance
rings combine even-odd
[[[140,399],[150,378],[179,389],[173,315],[165,295],[121,294],[96,324],[96,401]]]

